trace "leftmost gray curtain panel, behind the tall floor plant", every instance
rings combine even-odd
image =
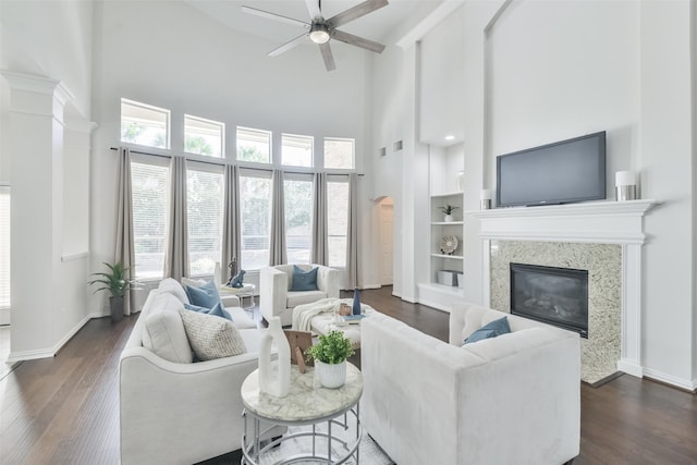
[[[129,271],[129,279],[135,278],[135,241],[133,238],[133,199],[131,195],[131,151],[119,148],[119,207],[117,217],[117,252],[114,261],[121,262]],[[129,291],[123,299],[123,314],[137,311],[135,295]]]

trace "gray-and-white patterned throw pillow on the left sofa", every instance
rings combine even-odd
[[[182,308],[188,343],[200,360],[231,357],[247,352],[244,340],[232,321]]]

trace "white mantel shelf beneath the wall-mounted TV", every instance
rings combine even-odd
[[[658,201],[596,201],[467,211],[486,240],[643,244],[641,219]]]

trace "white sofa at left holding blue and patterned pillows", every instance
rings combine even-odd
[[[162,281],[149,293],[121,353],[123,465],[188,465],[241,448],[244,407],[240,388],[258,367],[258,346],[265,330],[258,330],[241,308],[228,308],[246,353],[192,363],[192,350],[179,317],[184,302],[186,294],[176,281]],[[160,331],[159,336],[151,322],[146,328],[146,320],[156,313],[169,313],[167,330]],[[173,315],[179,317],[179,323]],[[158,338],[168,338],[171,344],[155,341]],[[159,344],[164,358],[146,348],[155,344]],[[274,428],[265,438],[283,431],[284,428]]]

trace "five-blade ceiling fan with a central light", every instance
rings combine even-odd
[[[281,21],[283,23],[302,25],[303,27],[305,27],[305,29],[307,29],[302,35],[271,50],[269,52],[269,57],[276,57],[277,54],[281,54],[284,51],[292,49],[301,41],[303,41],[307,36],[309,36],[309,39],[313,42],[319,46],[319,50],[322,53],[322,59],[325,60],[325,68],[327,68],[327,71],[333,71],[337,69],[337,65],[334,64],[334,57],[331,53],[331,47],[329,47],[330,39],[335,39],[345,44],[350,44],[352,46],[360,47],[376,53],[381,53],[382,50],[384,50],[384,46],[382,44],[378,44],[376,41],[368,40],[353,34],[344,33],[343,30],[339,30],[338,27],[343,26],[351,21],[357,20],[358,17],[365,16],[366,14],[381,9],[382,7],[387,7],[389,4],[388,0],[366,0],[363,3],[358,3],[357,5],[352,7],[348,10],[345,10],[328,20],[322,16],[321,0],[305,0],[305,2],[307,3],[307,11],[309,11],[309,23],[306,21],[283,16],[281,14],[258,10],[252,7],[242,7],[242,11],[244,11],[245,13],[256,14],[261,17]]]

